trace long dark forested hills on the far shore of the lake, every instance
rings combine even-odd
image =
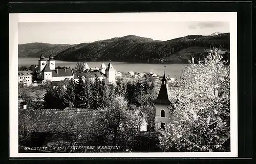
[[[40,49],[29,49],[31,57],[37,57],[40,52],[50,55],[53,50],[54,59],[66,61],[112,61],[152,62],[160,61],[173,63],[187,63],[191,55],[202,53],[210,46],[229,50],[229,33],[215,36],[188,35],[167,41],[153,40],[135,35],[80,43],[77,45],[51,44]],[[26,50],[26,45],[19,45]],[[24,50],[24,51],[25,51]],[[33,52],[37,52],[32,56]],[[39,54],[38,54],[39,53]],[[19,56],[23,57],[22,50]],[[29,55],[27,55],[29,57]]]

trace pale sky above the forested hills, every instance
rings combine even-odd
[[[229,22],[19,22],[18,44],[79,44],[126,35],[165,41],[187,35],[210,35],[214,32],[230,32]]]

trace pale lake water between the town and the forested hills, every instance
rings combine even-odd
[[[30,66],[33,64],[38,64],[39,58],[18,58],[18,66]],[[77,62],[71,62],[71,61],[59,61],[56,60],[56,66],[67,66],[74,68],[76,66]],[[100,67],[102,62],[87,62],[89,67]],[[109,61],[104,62],[107,66]],[[143,72],[153,72],[158,75],[163,75],[163,68],[166,66],[166,76],[169,75],[170,78],[176,78],[176,76],[180,76],[182,68],[185,67],[187,64],[148,64],[148,63],[127,63],[127,62],[111,62],[114,69],[116,71],[120,72],[137,72],[137,73],[143,73]]]

